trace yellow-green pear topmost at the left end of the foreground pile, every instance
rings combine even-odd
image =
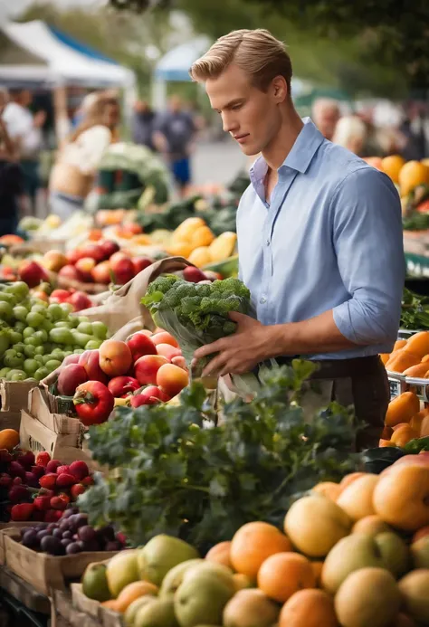
[[[160,586],[162,580],[177,564],[199,557],[194,546],[178,537],[161,534],[152,537],[148,544],[138,550],[138,571],[140,579]]]

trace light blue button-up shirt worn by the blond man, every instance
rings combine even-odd
[[[401,204],[388,176],[323,138],[309,118],[278,169],[270,204],[259,157],[237,212],[240,277],[264,325],[333,309],[356,347],[312,359],[389,353],[405,280]]]

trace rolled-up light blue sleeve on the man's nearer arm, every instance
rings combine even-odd
[[[363,167],[338,185],[331,210],[338,269],[350,295],[333,309],[335,324],[356,344],[393,344],[405,281],[396,187],[386,175]]]

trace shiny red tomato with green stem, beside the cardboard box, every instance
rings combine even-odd
[[[73,403],[81,423],[89,427],[107,421],[115,406],[115,399],[109,388],[100,381],[87,381],[76,388]]]

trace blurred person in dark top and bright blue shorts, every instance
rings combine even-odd
[[[197,130],[194,117],[183,108],[182,100],[172,96],[167,111],[157,117],[153,139],[157,150],[167,158],[182,197],[192,178],[190,156]]]

